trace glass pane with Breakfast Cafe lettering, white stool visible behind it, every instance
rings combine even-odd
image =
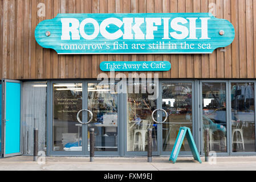
[[[127,94],[127,151],[147,151],[147,132],[152,128],[152,151],[157,150],[157,125],[152,120],[156,100],[150,100],[146,84],[132,83]],[[153,85],[151,85],[153,88]]]

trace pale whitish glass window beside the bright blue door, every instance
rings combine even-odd
[[[38,150],[46,151],[46,81],[22,82],[23,154],[33,155],[34,127],[38,128]]]

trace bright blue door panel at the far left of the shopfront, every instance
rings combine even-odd
[[[4,80],[3,156],[21,154],[21,82]]]

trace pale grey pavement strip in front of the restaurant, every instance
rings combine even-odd
[[[42,159],[39,158],[39,159]],[[90,162],[88,157],[47,156],[43,160],[33,161],[33,156],[14,156],[0,159],[0,171],[255,171],[256,156],[217,157],[200,164],[192,157],[180,157],[176,163],[168,157],[155,156],[148,163],[146,157],[106,158],[95,157]]]

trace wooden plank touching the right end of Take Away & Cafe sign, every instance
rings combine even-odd
[[[178,12],[178,0],[171,0],[170,1],[170,13],[177,13]],[[178,55],[171,55],[170,56],[170,77],[178,78]]]

